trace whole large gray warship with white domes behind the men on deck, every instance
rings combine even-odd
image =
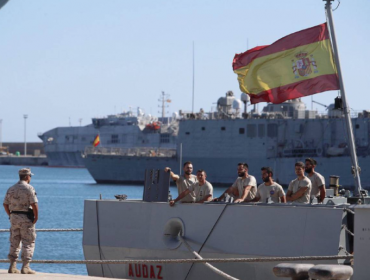
[[[88,147],[85,166],[97,183],[142,184],[145,169],[168,166],[181,173],[181,164],[191,161],[195,169],[206,170],[210,182],[231,184],[237,163],[247,162],[250,174],[258,176],[262,166],[270,166],[276,181],[287,185],[295,178],[294,163],[312,157],[318,162],[317,171],[327,179],[340,175],[343,186],[353,185],[340,104],[319,113],[294,99],[245,113],[244,101],[228,91],[218,99],[216,112],[180,111],[172,124],[178,126],[177,136],[171,136],[173,148],[165,149],[163,142],[151,148]],[[370,166],[370,112],[352,112],[351,120],[359,164]],[[370,174],[362,174],[362,185],[370,186]]]

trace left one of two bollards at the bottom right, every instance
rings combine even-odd
[[[308,280],[308,271],[314,264],[280,263],[274,267],[276,277],[290,277],[292,280]]]

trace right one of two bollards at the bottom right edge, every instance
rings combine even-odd
[[[352,267],[340,264],[319,264],[308,271],[308,275],[317,280],[349,280],[352,274]]]

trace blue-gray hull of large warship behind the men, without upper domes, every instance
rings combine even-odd
[[[370,166],[369,118],[353,118],[359,164]],[[270,166],[283,185],[296,175],[294,164],[307,157],[317,160],[317,172],[327,180],[339,175],[340,184],[353,186],[342,118],[326,119],[234,119],[180,121],[177,151],[172,157],[127,156],[109,152],[84,155],[84,164],[98,183],[143,183],[145,169],[169,166],[175,173],[182,162],[204,169],[213,184],[231,184],[238,162],[249,164],[249,173],[259,178]],[[180,148],[181,147],[181,148]],[[370,173],[362,172],[362,186],[370,187]],[[328,181],[327,181],[328,182]]]

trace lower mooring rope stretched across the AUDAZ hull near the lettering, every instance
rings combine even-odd
[[[32,263],[55,263],[55,264],[148,264],[148,263],[230,263],[230,262],[290,262],[290,261],[327,261],[352,259],[348,256],[309,256],[309,257],[267,257],[267,258],[227,258],[227,259],[160,259],[160,260],[32,260]],[[0,263],[8,263],[8,259],[0,259]]]

